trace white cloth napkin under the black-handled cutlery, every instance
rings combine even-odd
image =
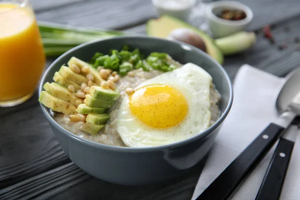
[[[233,104],[209,151],[192,200],[234,160],[235,157],[277,117],[275,101],[283,78],[247,64],[238,70],[233,85]],[[275,146],[261,160],[230,199],[253,200]],[[300,199],[300,132],[293,148],[280,199]]]

